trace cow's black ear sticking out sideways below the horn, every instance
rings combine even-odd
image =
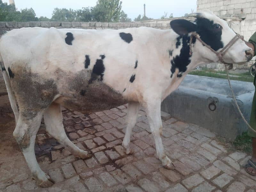
[[[185,19],[172,20],[170,25],[173,31],[180,36],[186,35],[192,31],[196,31],[197,28],[196,24]]]

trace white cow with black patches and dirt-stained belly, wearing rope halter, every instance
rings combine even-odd
[[[161,102],[196,66],[219,61],[211,49],[220,51],[236,36],[226,21],[211,12],[191,16],[196,18],[194,22],[172,20],[168,30],[35,27],[13,29],[1,37],[0,63],[16,120],[13,136],[39,186],[53,184],[39,167],[34,152],[43,116],[47,133],[74,156],[92,156],[68,139],[60,106],[92,113],[128,103],[122,143],[126,154],[132,152],[130,137],[138,109],[144,107],[156,155],[164,168],[174,169],[161,140]],[[193,32],[211,49],[190,38]],[[223,56],[226,63],[251,58],[251,49],[242,39]]]

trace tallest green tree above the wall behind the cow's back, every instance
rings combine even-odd
[[[119,0],[98,0],[92,8],[94,21],[118,22],[121,16],[122,1]]]

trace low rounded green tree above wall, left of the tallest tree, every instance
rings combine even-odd
[[[52,12],[53,21],[75,21],[75,19],[76,12],[73,9],[59,9],[58,7],[56,7]]]

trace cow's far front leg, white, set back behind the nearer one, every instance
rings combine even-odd
[[[125,148],[125,153],[127,155],[132,153],[132,150],[130,148],[131,133],[132,133],[132,129],[137,121],[139,108],[140,108],[139,103],[129,103],[128,104],[128,115],[126,118],[127,127],[126,127],[124,140],[122,143],[122,146]]]

